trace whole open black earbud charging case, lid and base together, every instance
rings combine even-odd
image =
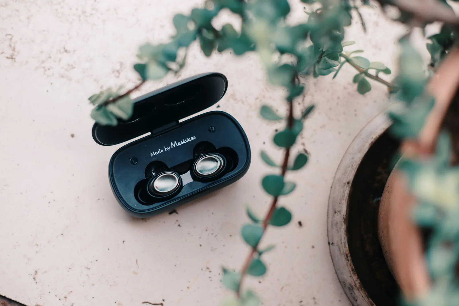
[[[128,121],[120,120],[114,127],[94,124],[92,136],[99,145],[117,145],[151,133],[117,150],[108,166],[113,194],[129,214],[143,218],[171,211],[234,183],[247,172],[251,160],[249,142],[231,115],[209,111],[179,122],[217,103],[227,88],[228,80],[223,74],[200,74],[135,99]],[[199,166],[204,167],[199,171],[194,165],[207,155],[222,164],[218,164],[221,167],[217,175],[200,177],[206,165]],[[165,182],[179,184],[167,196],[152,193],[161,190],[152,180],[162,171],[172,173],[169,177],[173,181]],[[174,173],[179,175],[177,181]]]

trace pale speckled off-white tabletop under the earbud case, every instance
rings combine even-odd
[[[259,182],[274,170],[258,152],[282,154],[270,141],[282,127],[259,119],[258,109],[269,104],[285,111],[285,92],[267,84],[257,56],[206,58],[196,44],[183,72],[142,88],[138,95],[178,78],[224,73],[229,89],[209,110],[233,115],[253,153],[249,171],[235,184],[179,207],[178,214],[148,219],[129,217],[114,199],[107,165],[120,145],[95,144],[87,101],[102,87],[132,86],[137,46],[167,39],[174,13],[202,2],[0,1],[0,295],[44,306],[210,306],[229,294],[219,283],[220,267],[239,268],[247,254],[239,236],[248,221],[245,204],[261,215],[269,203]],[[291,3],[291,19],[304,18],[299,1]],[[363,14],[368,33],[356,20],[347,39],[394,67],[403,28],[378,11]],[[227,14],[215,24],[230,20]],[[267,276],[246,283],[264,305],[349,305],[329,255],[328,195],[348,145],[386,105],[386,89],[377,83],[358,95],[354,74],[343,67],[334,80],[310,80],[295,102],[298,113],[317,104],[294,148],[308,150],[310,162],[288,174],[300,188],[281,200],[294,222],[269,229],[263,239],[277,245],[266,254]]]

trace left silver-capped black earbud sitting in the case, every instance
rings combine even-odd
[[[182,187],[179,173],[168,169],[162,161],[152,161],[145,169],[146,190],[154,198],[173,197]]]

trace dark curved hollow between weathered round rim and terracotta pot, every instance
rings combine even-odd
[[[347,217],[350,259],[364,290],[377,306],[397,305],[399,288],[378,239],[379,203],[400,142],[386,131],[375,140],[351,184]]]

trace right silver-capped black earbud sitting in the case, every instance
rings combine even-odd
[[[198,157],[191,168],[196,181],[209,182],[224,175],[226,158],[219,153],[208,153]]]

